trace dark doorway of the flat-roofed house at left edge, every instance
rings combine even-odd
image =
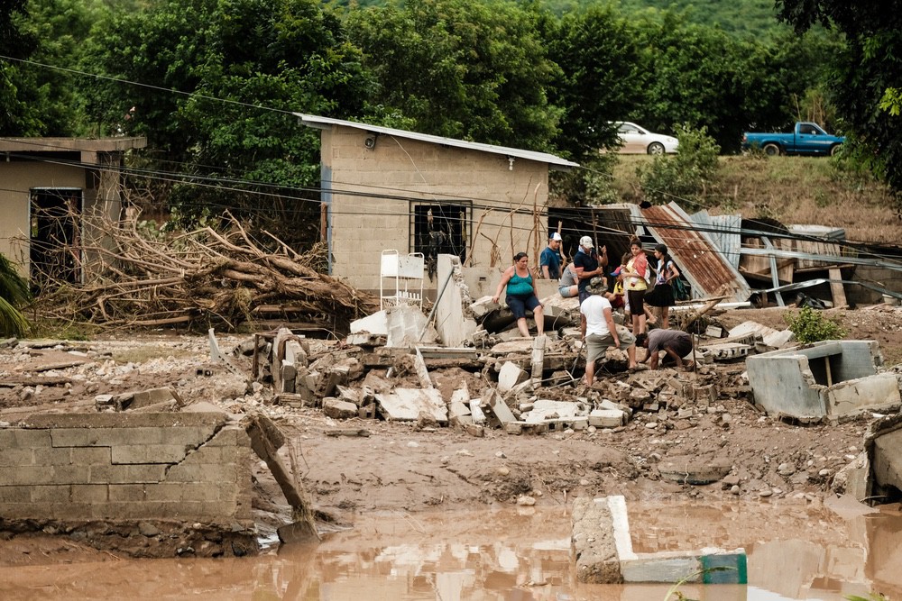
[[[80,284],[82,192],[78,188],[32,188],[32,282]]]

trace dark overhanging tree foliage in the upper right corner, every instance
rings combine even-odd
[[[902,128],[881,106],[902,81],[902,0],[777,0],[779,18],[805,32],[815,24],[845,36],[830,82],[833,104],[870,168],[902,193]],[[892,92],[889,92],[890,96]],[[886,105],[884,105],[886,106]]]

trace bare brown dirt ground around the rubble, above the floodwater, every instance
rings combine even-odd
[[[786,309],[730,310],[716,320],[730,328],[755,321],[785,329]],[[902,360],[902,307],[862,306],[825,312],[852,339],[879,341],[886,367]],[[219,338],[231,351],[248,336]],[[320,351],[327,342],[316,342]],[[73,354],[73,351],[75,354]],[[640,351],[641,353],[642,351]],[[232,414],[262,412],[290,441],[301,481],[323,516],[353,524],[364,512],[465,509],[490,505],[567,505],[575,496],[624,495],[628,500],[792,498],[817,503],[831,494],[836,472],[862,449],[871,414],[840,423],[799,425],[763,414],[741,382],[744,362],[715,363],[697,372],[613,373],[604,378],[634,382],[664,376],[700,386],[720,382],[722,393],[709,407],[678,419],[675,408],[637,410],[625,426],[582,431],[512,435],[486,428],[474,437],[456,428],[379,420],[338,421],[315,407],[272,405],[272,388],[216,369],[204,336],[153,332],[106,336],[51,348],[0,348],[0,422],[15,423],[35,411],[94,411],[95,396],[170,386],[186,401],[208,401]],[[640,354],[641,356],[641,354]],[[69,379],[69,385],[30,387],[10,380],[52,364],[78,365],[41,371]],[[250,375],[248,358],[238,360]],[[209,366],[211,369],[199,369]],[[199,372],[199,373],[198,373]],[[212,374],[212,375],[205,375]],[[461,368],[431,372],[443,394],[466,381],[472,396],[487,385],[479,372]],[[726,386],[724,386],[726,384]],[[574,399],[573,387],[545,388],[538,397]],[[682,408],[686,409],[686,405]],[[327,435],[357,430],[364,436]],[[726,478],[688,485],[662,477],[661,466],[710,460],[730,466]],[[288,521],[279,488],[262,463],[253,467],[254,509],[263,533]],[[105,560],[109,550],[92,550],[66,537],[42,534],[0,537],[0,565]]]

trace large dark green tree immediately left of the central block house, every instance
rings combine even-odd
[[[95,28],[85,65],[142,84],[93,84],[88,107],[105,132],[144,135],[168,161],[156,168],[230,188],[175,185],[180,214],[230,208],[287,241],[311,221],[297,188],[319,175],[318,135],[290,112],[358,114],[368,89],[358,50],[314,0],[169,0],[115,13]]]

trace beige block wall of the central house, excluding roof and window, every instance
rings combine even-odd
[[[495,267],[509,267],[520,250],[538,264],[534,250],[545,247],[548,232],[538,232],[536,247],[529,212],[536,207],[546,214],[547,163],[515,159],[511,168],[502,155],[391,136],[379,136],[375,147],[367,149],[367,135],[339,126],[322,134],[324,173],[333,190],[334,276],[354,287],[379,290],[382,250],[413,251],[410,214],[416,202],[472,203],[471,265],[491,266],[492,242],[498,247]],[[511,215],[513,208],[524,213]],[[428,278],[424,282],[427,290],[439,285]]]

